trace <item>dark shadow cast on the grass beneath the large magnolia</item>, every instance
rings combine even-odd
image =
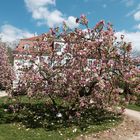
[[[28,128],[44,128],[47,131],[59,128],[78,126],[81,130],[89,125],[100,125],[120,117],[112,112],[97,108],[83,109],[78,117],[77,109],[69,106],[57,106],[57,112],[52,104],[20,103],[0,104],[0,124],[22,122]]]

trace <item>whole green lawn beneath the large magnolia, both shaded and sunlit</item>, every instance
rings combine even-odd
[[[22,104],[26,106],[26,110],[18,114],[4,111],[14,101],[7,100],[7,97],[0,99],[0,140],[67,140],[75,139],[79,135],[87,135],[96,133],[116,126],[121,122],[119,117],[111,116],[109,113],[100,116],[94,114],[95,110],[84,114],[82,120],[79,121],[76,117],[69,123],[66,119],[53,118],[52,112],[48,108],[44,108],[43,102],[48,99],[30,101],[26,97],[21,98]],[[29,106],[29,102],[32,106]],[[45,109],[45,110],[44,110]],[[62,108],[62,113],[67,110]],[[31,113],[31,114],[30,114]],[[40,121],[47,123],[47,127],[38,125],[38,122],[32,122],[34,116],[50,114],[50,117],[42,117]],[[98,116],[98,117],[93,117]],[[47,120],[45,120],[47,118]],[[96,120],[97,119],[97,120]],[[96,121],[95,121],[96,120]],[[69,123],[69,124],[68,124]],[[34,124],[34,125],[33,125]],[[68,125],[66,125],[68,124]],[[49,126],[49,127],[48,127]],[[74,131],[76,130],[76,132]]]

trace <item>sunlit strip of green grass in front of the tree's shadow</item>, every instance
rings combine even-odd
[[[114,122],[116,125],[116,122]],[[28,129],[23,125],[17,124],[1,124],[0,125],[0,140],[65,140],[74,139],[76,136],[82,134],[99,132],[111,128],[113,123],[104,123],[102,125],[89,126],[87,131],[73,132],[76,127],[69,129],[60,129],[55,131],[45,131],[43,128]]]

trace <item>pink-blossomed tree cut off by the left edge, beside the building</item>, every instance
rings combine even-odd
[[[9,62],[6,44],[0,42],[0,88],[10,91],[12,88],[13,70]]]

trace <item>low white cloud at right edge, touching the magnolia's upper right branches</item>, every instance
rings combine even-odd
[[[118,39],[120,38],[121,35],[124,35],[125,38],[124,40],[126,42],[131,42],[133,46],[133,50],[140,51],[140,32],[127,32],[125,30],[116,32],[116,36]]]

